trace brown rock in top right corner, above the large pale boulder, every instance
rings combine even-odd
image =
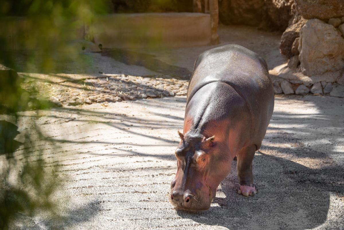
[[[305,19],[330,19],[344,16],[343,0],[295,0],[295,10]]]

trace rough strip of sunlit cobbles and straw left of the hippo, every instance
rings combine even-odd
[[[25,77],[23,88],[36,98],[53,102],[56,106],[83,105],[93,103],[121,102],[142,98],[186,95],[188,81],[140,77],[131,75],[103,74],[85,79],[68,80],[57,78],[46,81],[42,74],[21,74]]]

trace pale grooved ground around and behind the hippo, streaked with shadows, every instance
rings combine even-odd
[[[269,69],[285,61],[279,33],[249,27],[223,27],[219,33],[221,45],[244,45],[261,54]],[[212,47],[136,52],[185,73],[192,71],[200,52]],[[97,68],[88,74],[95,77],[98,71],[161,72],[89,55]],[[33,134],[32,155],[43,150],[48,167],[59,164],[57,175],[64,183],[53,198],[64,220],[18,216],[12,229],[344,229],[343,98],[276,97],[253,162],[259,194],[236,194],[234,161],[211,208],[200,213],[175,210],[168,201],[185,103],[185,96],[175,96],[21,113],[19,131],[30,128],[34,119],[52,141]]]

